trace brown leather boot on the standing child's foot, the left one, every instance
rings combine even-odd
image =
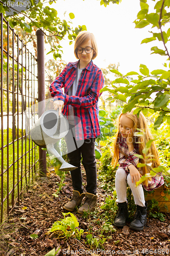
[[[80,194],[79,191],[73,190],[72,191],[72,198],[71,200],[64,205],[64,209],[68,211],[73,211],[76,206],[79,206],[82,203],[82,199],[85,197],[85,193]]]

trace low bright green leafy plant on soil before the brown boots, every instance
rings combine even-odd
[[[76,237],[80,240],[81,239],[81,235],[84,232],[83,229],[78,229],[76,227],[79,226],[79,222],[76,218],[76,216],[74,216],[74,214],[72,214],[71,212],[67,212],[64,213],[62,212],[64,219],[60,221],[57,221],[53,224],[53,227],[51,228],[51,232],[55,232],[57,230],[61,230],[66,239],[68,239],[68,237],[73,236],[74,234],[76,235]],[[68,217],[66,217],[67,215],[70,215]]]

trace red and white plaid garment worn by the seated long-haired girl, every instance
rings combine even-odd
[[[136,141],[137,141],[137,138],[136,138]],[[126,177],[129,174],[129,169],[128,169],[129,165],[133,164],[137,168],[137,164],[139,163],[139,158],[134,156],[134,154],[139,154],[139,143],[133,143],[133,146],[134,146],[134,150],[129,152],[126,139],[123,138],[122,136],[119,138],[120,152],[122,151],[124,154],[128,156],[126,159],[124,154],[119,152],[119,159],[118,159],[119,168],[123,168],[125,170]],[[137,169],[140,171],[140,168],[137,168]],[[145,190],[150,191],[164,184],[162,173],[157,173],[156,176],[152,177],[151,179],[152,179],[151,181],[150,180],[148,181],[148,186],[142,184]]]

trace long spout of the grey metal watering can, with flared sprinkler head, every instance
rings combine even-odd
[[[57,157],[57,159],[62,163],[60,170],[63,170],[64,172],[68,172],[70,170],[74,170],[77,169],[78,167],[71,165],[67,162],[65,162],[65,160],[59,155],[59,153],[57,152],[57,150],[55,150],[54,148],[54,144],[50,143],[46,145],[46,148],[48,151],[50,151],[55,157]]]

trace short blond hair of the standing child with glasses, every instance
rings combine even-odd
[[[91,44],[92,44],[93,52],[94,52],[92,59],[95,59],[95,57],[98,56],[98,47],[97,47],[94,35],[88,31],[81,31],[81,32],[79,32],[79,34],[77,35],[76,40],[75,40],[74,53],[75,53],[75,56],[77,59],[79,59],[79,57],[76,52],[76,49],[90,39],[91,39]]]

